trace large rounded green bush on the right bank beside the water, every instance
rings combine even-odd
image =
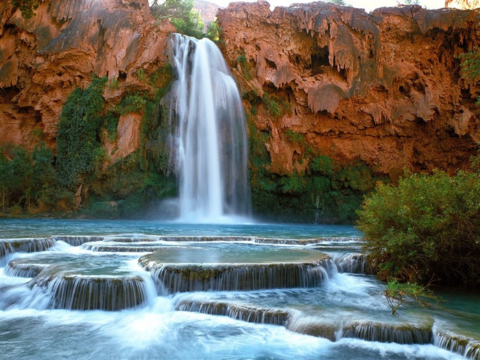
[[[479,287],[480,172],[411,174],[380,184],[357,228],[383,280]]]

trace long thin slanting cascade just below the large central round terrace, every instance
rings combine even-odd
[[[180,300],[176,310],[191,311],[209,315],[228,316],[244,322],[285,326],[289,320],[288,311],[280,309],[261,309],[221,301]]]

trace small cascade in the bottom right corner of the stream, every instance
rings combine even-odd
[[[470,337],[434,329],[433,344],[439,348],[463,355],[467,359],[480,360],[480,341]]]

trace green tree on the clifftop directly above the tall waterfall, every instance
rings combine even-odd
[[[194,38],[204,38],[204,23],[193,8],[193,0],[154,0],[150,12],[157,20],[168,19],[177,32]]]

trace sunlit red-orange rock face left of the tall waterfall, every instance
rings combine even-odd
[[[104,95],[113,104],[126,91],[145,90],[134,73],[163,62],[167,34],[174,31],[155,23],[147,0],[41,1],[29,20],[11,1],[1,1],[0,13],[0,146],[32,148],[36,128],[54,147],[65,101],[73,89],[88,86],[93,73],[117,82]],[[123,154],[137,147],[138,127],[137,121],[119,132]]]

